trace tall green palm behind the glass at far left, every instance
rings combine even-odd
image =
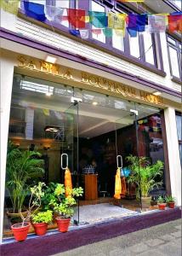
[[[13,212],[20,212],[32,180],[43,176],[43,160],[39,159],[40,156],[37,151],[21,151],[14,143],[8,144],[6,188],[9,190]]]

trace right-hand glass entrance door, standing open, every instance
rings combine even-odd
[[[141,211],[139,144],[137,132],[137,111],[122,112],[116,120],[117,170],[121,174],[121,204],[128,209],[128,215]]]

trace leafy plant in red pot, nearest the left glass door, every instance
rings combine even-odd
[[[66,189],[67,191],[67,189]],[[71,189],[69,196],[65,196],[64,184],[58,183],[54,189],[54,199],[49,202],[49,206],[54,208],[57,217],[56,222],[60,232],[66,232],[70,225],[71,217],[74,214],[74,207],[77,205],[76,198],[83,194],[83,189]]]

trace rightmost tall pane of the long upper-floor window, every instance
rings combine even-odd
[[[151,35],[148,32],[143,32],[144,47],[145,47],[145,61],[154,65],[154,52]]]

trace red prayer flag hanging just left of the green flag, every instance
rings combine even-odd
[[[76,28],[85,28],[85,10],[68,9],[68,20]]]

